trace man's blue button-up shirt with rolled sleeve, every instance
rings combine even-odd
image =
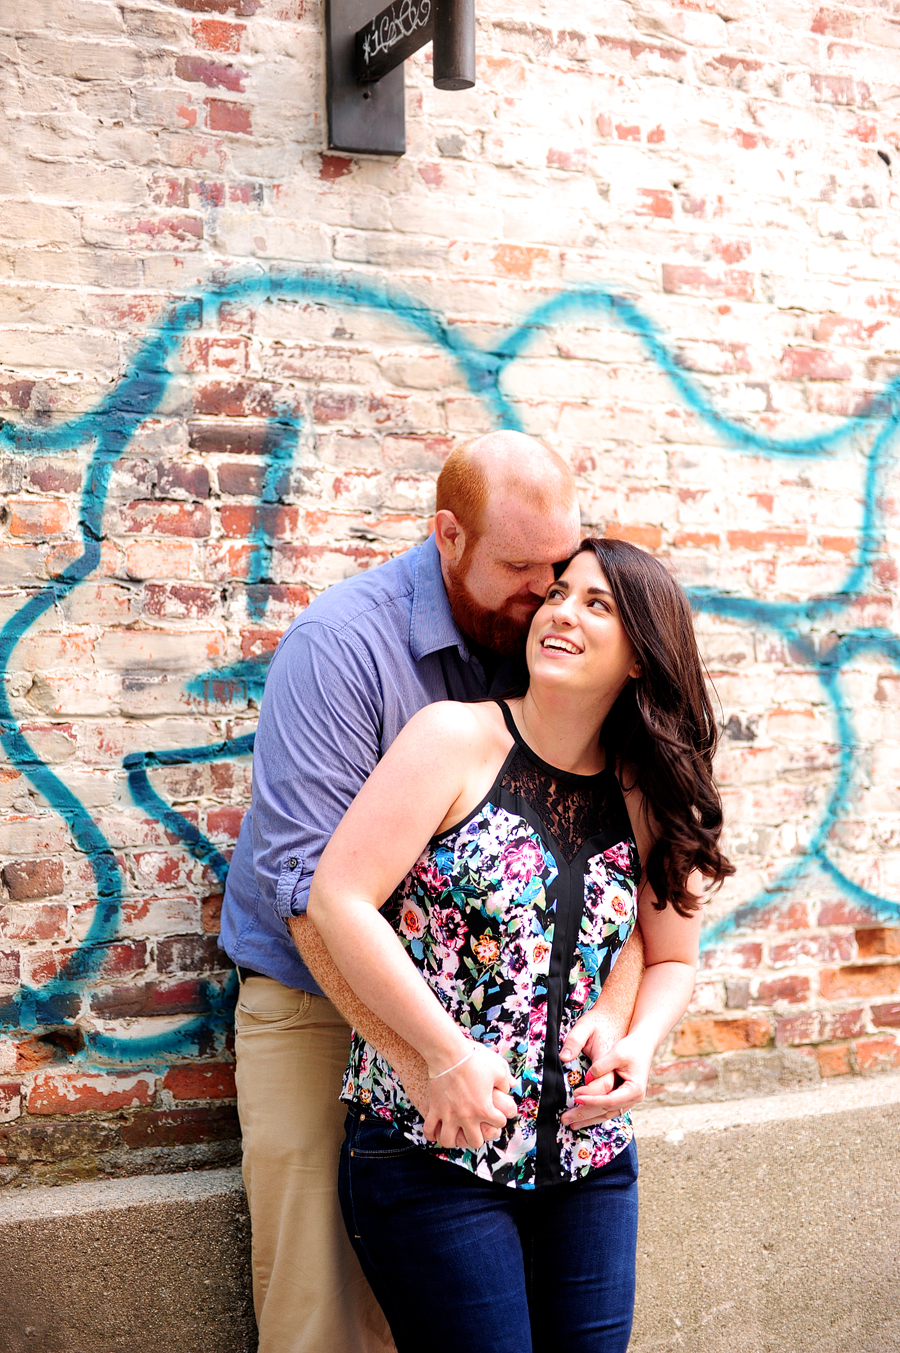
[[[267,675],[252,804],[225,888],[221,944],[235,963],[319,993],[286,919],[306,911],[332,832],[418,709],[485,694],[433,536],[296,617]]]

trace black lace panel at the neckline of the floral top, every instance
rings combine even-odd
[[[610,805],[609,789],[614,781],[608,775],[591,775],[579,783],[578,778],[562,775],[559,779],[535,762],[522,751],[516,748],[501,787],[510,794],[518,794],[525,800],[533,813],[541,820],[547,831],[559,843],[559,847],[568,862],[571,862],[586,840],[597,836],[606,827],[612,825],[612,815],[616,805]],[[616,794],[618,800],[618,794]]]

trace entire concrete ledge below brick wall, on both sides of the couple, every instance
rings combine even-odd
[[[631,1353],[900,1350],[900,1076],[636,1119]],[[0,1273],[0,1353],[256,1346],[237,1170],[5,1191]]]

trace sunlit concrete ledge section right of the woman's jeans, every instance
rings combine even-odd
[[[897,1353],[900,1076],[635,1119],[631,1353]]]

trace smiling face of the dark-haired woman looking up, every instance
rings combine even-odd
[[[613,594],[593,551],[575,555],[547,593],[528,633],[532,682],[595,691],[614,700],[640,675]]]

